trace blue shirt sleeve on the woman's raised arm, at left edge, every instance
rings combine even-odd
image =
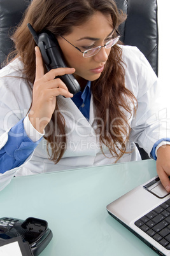
[[[8,132],[8,141],[0,150],[0,173],[21,166],[41,141],[39,139],[33,142],[29,139],[23,120],[24,118],[11,128]]]

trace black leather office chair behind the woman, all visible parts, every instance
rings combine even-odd
[[[157,0],[115,0],[118,8],[127,14],[120,25],[121,40],[125,45],[137,46],[158,75]],[[0,0],[0,68],[13,49],[10,36],[31,0]],[[142,159],[148,154],[139,148]]]

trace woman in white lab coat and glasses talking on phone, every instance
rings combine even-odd
[[[157,77],[118,41],[124,20],[113,0],[32,1],[13,35],[17,55],[0,73],[1,189],[14,175],[139,160],[137,142],[170,191],[170,146],[162,117],[153,118],[163,108]],[[54,34],[69,68],[46,71],[27,23]],[[67,90],[65,74],[81,92]]]

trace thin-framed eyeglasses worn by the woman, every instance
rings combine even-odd
[[[84,57],[84,58],[89,58],[89,57],[92,57],[92,56],[96,55],[96,54],[101,50],[101,48],[105,47],[106,49],[109,49],[109,48],[111,48],[113,45],[115,45],[115,44],[118,42],[119,38],[120,38],[120,34],[118,33],[118,31],[116,31],[116,32],[117,32],[117,34],[118,34],[118,36],[117,36],[116,38],[111,39],[110,41],[108,41],[107,43],[105,43],[103,46],[100,45],[100,46],[97,46],[97,47],[95,47],[95,48],[91,48],[91,49],[89,49],[89,50],[85,50],[85,52],[82,52],[82,51],[80,50],[80,48],[78,48],[78,47],[72,45],[72,43],[70,43],[69,41],[67,41],[67,39],[64,38],[63,36],[61,36],[61,35],[60,35],[60,36],[61,36],[64,40],[66,40],[67,43],[69,43],[70,45],[74,46],[74,48],[76,48],[79,52],[83,53],[83,57]]]

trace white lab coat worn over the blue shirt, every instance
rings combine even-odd
[[[165,118],[166,106],[160,99],[157,76],[143,54],[136,47],[121,46],[126,64],[125,86],[131,90],[138,100],[138,110],[132,117],[129,113],[131,135],[127,150],[118,162],[140,160],[139,152],[134,142],[145,148],[150,154],[154,143],[167,137]],[[0,71],[0,148],[8,140],[8,131],[20,119],[27,115],[31,105],[31,89],[21,76],[22,63],[17,59]],[[6,77],[4,77],[6,76]],[[14,77],[15,76],[15,77]],[[17,78],[20,77],[20,78]],[[114,85],[113,85],[114,86]],[[66,120],[67,150],[58,164],[48,159],[46,140],[43,138],[32,155],[22,166],[0,174],[0,190],[15,176],[62,171],[86,166],[101,166],[112,164],[108,148],[104,147],[103,155],[99,148],[93,97],[90,101],[89,122],[78,110],[73,101],[62,96],[58,97],[59,108]],[[133,108],[133,106],[132,106]],[[114,125],[114,124],[113,124]],[[170,125],[169,125],[170,126]],[[169,135],[170,137],[170,135]],[[0,166],[1,169],[1,166]]]

